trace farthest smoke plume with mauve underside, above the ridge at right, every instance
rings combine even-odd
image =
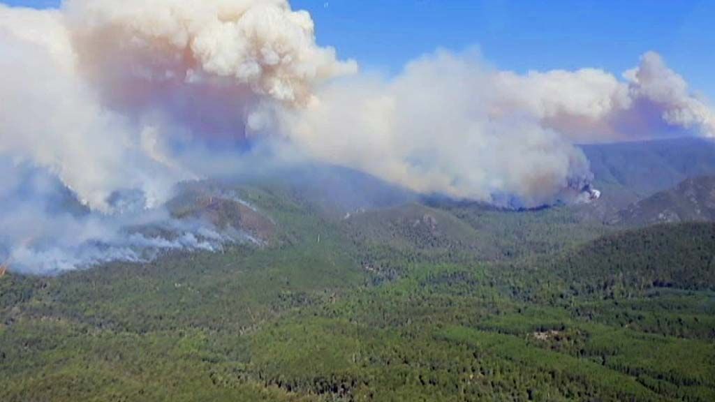
[[[575,142],[611,142],[663,135],[715,136],[715,114],[654,52],[623,74],[598,69],[493,77],[493,117],[529,114]]]

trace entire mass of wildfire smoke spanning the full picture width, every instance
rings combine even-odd
[[[533,207],[588,192],[575,143],[715,136],[712,109],[654,53],[622,78],[503,72],[469,52],[386,78],[317,46],[287,0],[0,5],[0,71],[0,258],[33,272],[220,247],[162,212],[185,180],[309,160]]]

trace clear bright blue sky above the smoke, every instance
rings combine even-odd
[[[47,7],[56,0],[0,0]],[[597,67],[620,74],[654,50],[715,100],[711,0],[292,0],[310,11],[320,44],[373,69],[398,72],[441,47],[478,46],[501,69]]]

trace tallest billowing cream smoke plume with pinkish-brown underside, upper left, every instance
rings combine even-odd
[[[285,0],[71,0],[65,16],[104,102],[204,137],[242,137],[258,102],[306,104],[316,84],[357,71]]]

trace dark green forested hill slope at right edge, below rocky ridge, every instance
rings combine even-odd
[[[715,224],[656,225],[602,237],[548,270],[588,293],[715,290]]]

